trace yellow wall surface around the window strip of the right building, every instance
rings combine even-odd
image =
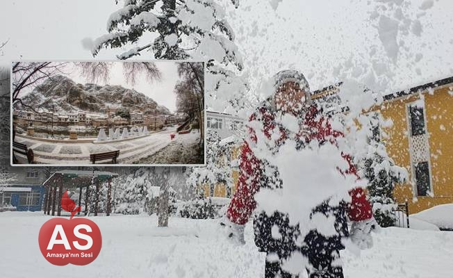
[[[429,134],[429,152],[431,155],[431,184],[434,196],[414,197],[411,184],[411,158],[409,154],[409,124],[407,104],[420,99],[420,94],[386,101],[379,111],[381,115],[393,121],[393,126],[383,131],[388,138],[383,138],[388,154],[396,165],[406,167],[409,183],[395,187],[394,197],[398,203],[409,202],[409,212],[417,213],[424,209],[453,202],[453,96],[449,88],[423,92],[427,132]]]

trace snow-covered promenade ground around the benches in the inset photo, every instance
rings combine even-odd
[[[162,131],[153,131],[147,136],[129,138],[117,142],[47,142],[36,138],[17,138],[28,148],[33,149],[35,162],[39,164],[90,164],[90,154],[120,150],[119,164],[203,164],[203,152],[200,157],[191,159],[197,151],[199,131],[188,134],[176,134],[174,140],[170,134],[176,133],[176,126],[167,126]],[[94,138],[93,138],[94,140]],[[170,147],[170,146],[173,147]],[[169,147],[169,148],[166,148]],[[199,149],[198,149],[199,150]],[[25,156],[17,155],[19,161],[26,161]]]

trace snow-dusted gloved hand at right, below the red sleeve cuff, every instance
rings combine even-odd
[[[351,235],[352,243],[357,245],[361,250],[370,249],[373,246],[371,231],[379,232],[381,227],[374,218],[363,221],[352,222]]]

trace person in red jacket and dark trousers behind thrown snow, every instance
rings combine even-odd
[[[256,143],[258,141],[256,132],[261,132],[260,135],[263,136],[261,138],[270,142],[268,144],[270,152],[276,154],[290,136],[297,138],[297,149],[306,147],[312,140],[317,140],[320,145],[325,143],[335,145],[336,138],[343,136],[342,133],[332,129],[320,108],[311,103],[308,83],[302,74],[291,70],[279,72],[274,76],[272,85],[276,88],[274,95],[264,101],[250,117],[251,122],[260,122],[263,126],[260,131],[249,129],[250,142]],[[295,136],[290,135],[290,131],[276,121],[277,113],[279,115],[289,113],[297,117],[301,122],[300,131]],[[342,156],[349,163],[349,169],[343,174],[356,175],[351,157],[346,154]],[[238,187],[229,204],[226,218],[221,223],[229,228],[229,236],[239,243],[244,243],[243,226],[255,211],[254,196],[260,188],[274,189],[282,186],[283,181],[279,177],[277,167],[265,159],[257,158],[249,143],[245,142],[240,157]],[[372,218],[372,209],[363,188],[354,188],[349,191],[349,195],[351,202],[340,202],[338,206],[329,204],[329,196],[326,196],[326,201],[312,210],[312,213],[324,213],[335,217],[335,236],[324,236],[315,229],[301,235],[299,224],[291,225],[285,213],[274,211],[269,215],[265,211],[255,211],[255,243],[261,252],[268,254],[265,277],[295,277],[281,268],[282,262],[294,252],[301,252],[308,258],[310,267],[307,268],[307,272],[310,278],[343,277],[343,270],[335,261],[339,259],[339,250],[344,249],[342,239],[349,236],[346,215],[353,222],[350,237],[361,248],[372,245],[370,231],[378,227]],[[272,236],[274,232],[272,229],[275,227],[278,227],[278,238]],[[303,247],[295,242],[300,236],[304,238]]]

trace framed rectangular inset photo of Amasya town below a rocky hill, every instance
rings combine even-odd
[[[204,63],[13,62],[12,165],[203,165]]]

